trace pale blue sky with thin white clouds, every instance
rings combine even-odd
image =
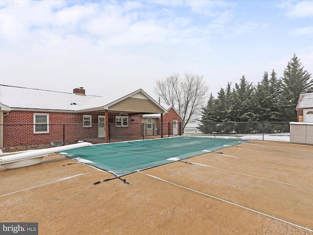
[[[216,97],[294,53],[313,73],[313,1],[0,1],[1,85],[158,100],[156,80],[189,72]]]

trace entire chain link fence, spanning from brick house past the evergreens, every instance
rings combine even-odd
[[[176,135],[200,135],[212,138],[289,141],[289,122],[207,122],[191,123],[182,130],[181,123],[113,124],[4,124],[1,136],[3,152],[40,149],[73,144],[80,141],[96,143],[161,138]],[[106,128],[108,130],[106,130]]]

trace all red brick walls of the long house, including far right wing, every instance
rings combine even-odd
[[[34,133],[34,112],[12,111],[3,117],[3,147],[24,146],[23,149],[43,148],[49,146],[77,143],[79,140],[98,138],[98,116],[103,113],[48,113],[36,112],[38,114],[49,114],[49,133]],[[83,115],[91,115],[91,127],[83,127]],[[141,136],[142,117],[138,115],[129,116],[128,127],[115,126],[116,114],[109,114],[110,137],[118,136]],[[164,135],[168,134],[168,122],[171,123],[171,135],[173,135],[173,120],[181,122],[178,114],[170,110],[163,116]],[[159,123],[158,119],[158,123]],[[157,130],[159,130],[159,126]],[[64,135],[65,134],[65,135]],[[155,134],[159,134],[157,131]],[[145,133],[147,135],[147,133]],[[27,146],[27,147],[25,147]],[[15,149],[14,151],[19,150]]]

